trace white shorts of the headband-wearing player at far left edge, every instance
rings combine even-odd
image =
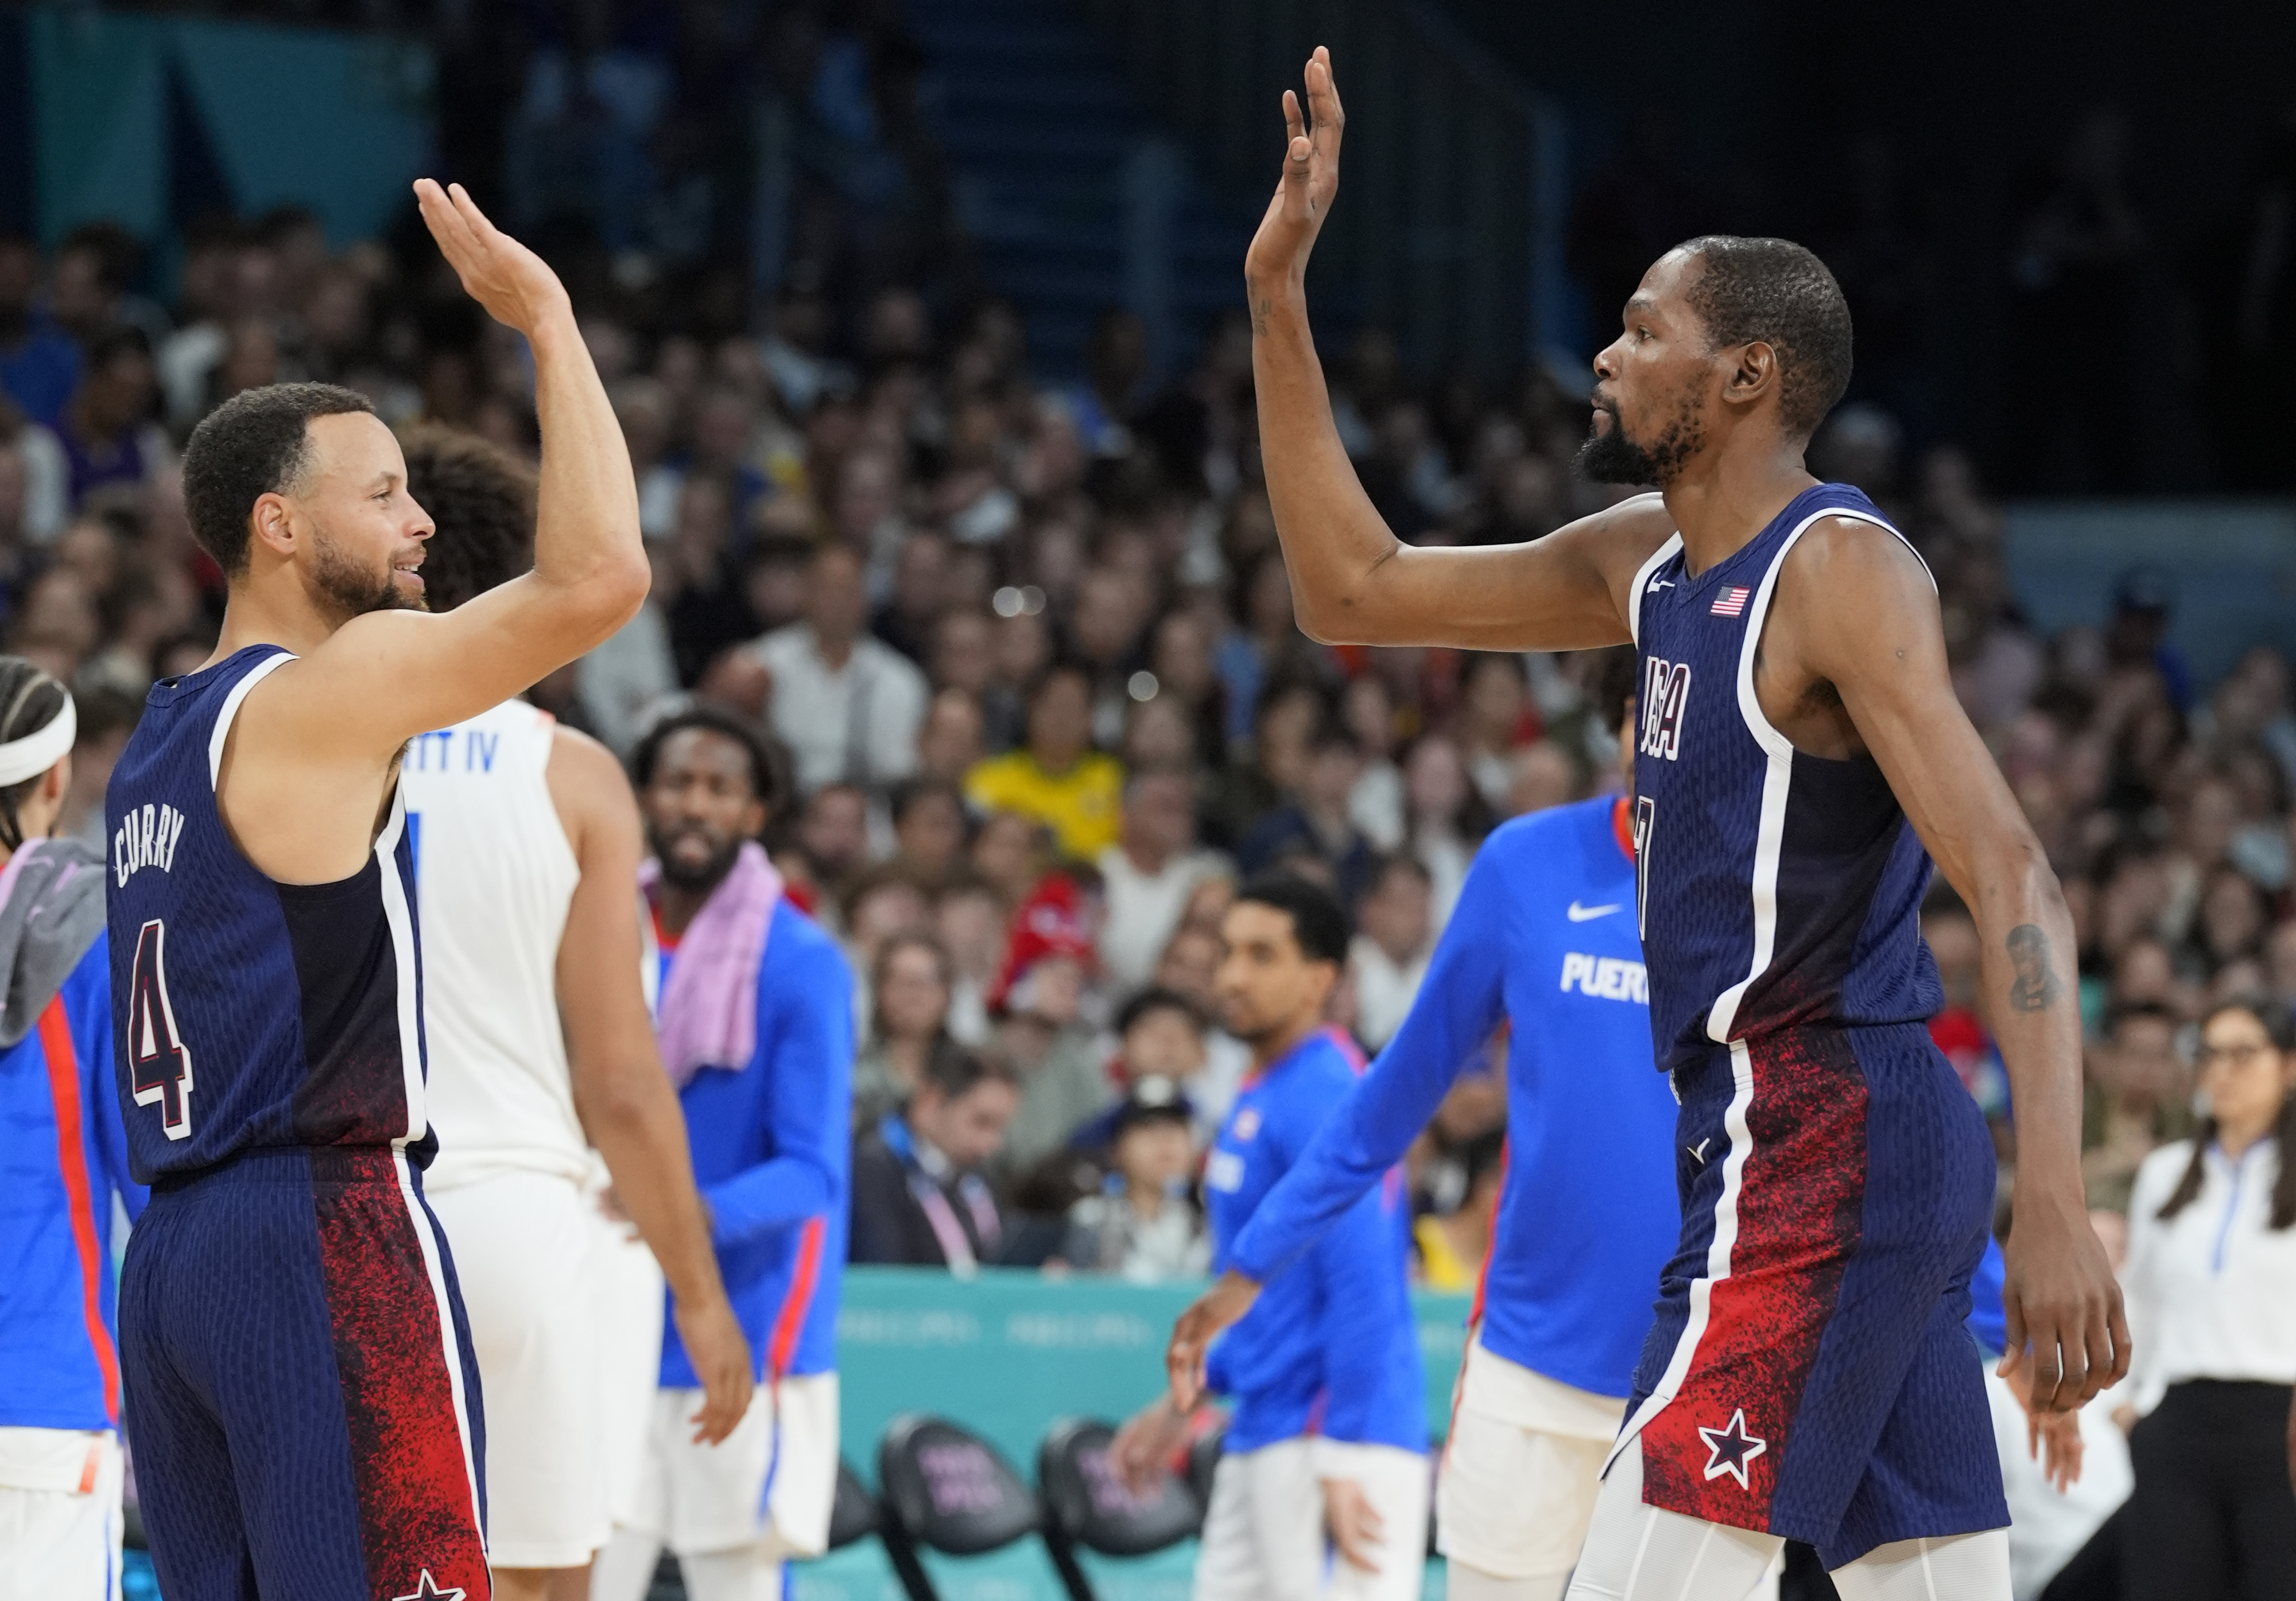
[[[0,1429],[0,1601],[119,1601],[119,1436]]]

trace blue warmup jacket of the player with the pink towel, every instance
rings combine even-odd
[[[668,984],[675,950],[661,952]],[[709,1206],[726,1294],[758,1379],[838,1365],[838,1287],[852,1172],[854,1000],[845,952],[788,899],[774,904],[758,968],[758,1053],[705,1067],[677,1094],[693,1181]],[[670,1321],[664,1388],[696,1388]]]

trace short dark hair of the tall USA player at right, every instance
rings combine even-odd
[[[1851,388],[1851,303],[1825,261],[1791,239],[1701,234],[1678,248],[1704,264],[1685,296],[1715,349],[1775,349],[1779,422],[1816,434]]]

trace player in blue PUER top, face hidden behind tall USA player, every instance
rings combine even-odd
[[[1603,697],[1628,773],[1632,674],[1619,651]],[[1210,1337],[1403,1158],[1504,1021],[1506,1188],[1435,1477],[1453,1601],[1559,1601],[1681,1223],[1628,817],[1598,796],[1492,830],[1403,1028],[1173,1328],[1185,1411]]]

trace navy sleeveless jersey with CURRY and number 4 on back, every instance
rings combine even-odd
[[[163,679],[113,768],[106,904],[113,1064],[135,1179],[257,1147],[395,1147],[418,1165],[422,966],[406,812],[335,883],[278,883],[216,807],[248,690],[294,661],[250,645]]]

